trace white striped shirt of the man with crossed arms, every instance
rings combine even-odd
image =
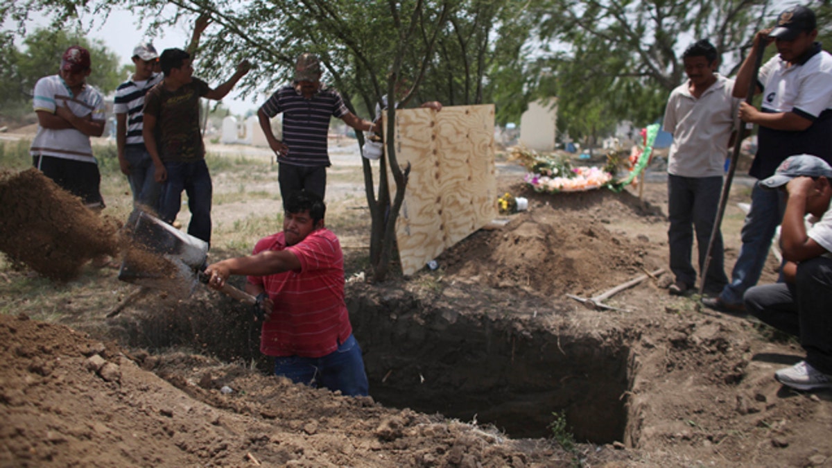
[[[35,112],[55,113],[57,106],[67,106],[78,117],[91,117],[92,120],[104,120],[104,98],[98,90],[85,84],[77,96],[67,87],[60,75],[42,77],[35,83],[35,96],[32,103]],[[96,163],[92,156],[90,137],[76,128],[37,127],[37,135],[29,148],[32,156],[51,156],[73,161]]]

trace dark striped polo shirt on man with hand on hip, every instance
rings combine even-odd
[[[337,91],[322,87],[306,99],[295,87],[287,85],[272,94],[260,110],[269,117],[283,112],[283,143],[289,147],[289,153],[278,156],[278,162],[329,167],[326,139],[329,118],[341,118],[349,113]]]

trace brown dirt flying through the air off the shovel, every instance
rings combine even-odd
[[[92,258],[116,256],[118,228],[35,168],[0,173],[0,251],[43,276],[67,281]]]

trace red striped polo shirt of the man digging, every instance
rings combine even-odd
[[[269,250],[291,251],[300,261],[300,271],[248,277],[275,303],[270,320],[263,322],[260,351],[266,356],[301,357],[334,352],[353,332],[344,302],[344,255],[338,237],[319,229],[286,246],[283,232],[278,232],[260,239],[253,253]]]

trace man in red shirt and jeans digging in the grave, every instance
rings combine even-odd
[[[326,206],[313,192],[284,201],[283,231],[257,242],[250,256],[206,268],[209,286],[247,275],[245,291],[257,296],[263,316],[260,351],[275,356],[275,374],[296,383],[366,396],[369,384],[361,347],[344,302],[344,255],[324,227]]]

